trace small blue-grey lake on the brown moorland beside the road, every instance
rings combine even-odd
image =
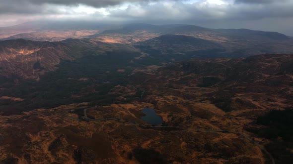
[[[142,117],[146,123],[157,125],[163,122],[163,119],[151,108],[145,108],[142,110],[142,112],[146,115]]]

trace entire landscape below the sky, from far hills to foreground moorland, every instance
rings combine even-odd
[[[292,161],[291,37],[94,27],[0,31],[0,163]]]

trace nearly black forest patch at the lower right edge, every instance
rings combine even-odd
[[[259,137],[272,139],[267,144],[266,149],[275,158],[277,164],[290,164],[293,161],[293,108],[287,108],[284,111],[273,110],[269,113],[259,116],[257,124],[265,125],[265,128],[254,129]],[[277,140],[281,137],[282,140]]]

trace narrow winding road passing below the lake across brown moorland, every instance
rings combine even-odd
[[[105,122],[105,121],[112,120],[112,121],[116,121],[116,122],[119,122],[119,123],[127,123],[127,124],[137,125],[137,126],[140,126],[140,127],[147,127],[147,128],[166,128],[166,127],[169,127],[169,128],[174,128],[174,129],[179,129],[179,130],[185,130],[185,131],[194,131],[194,132],[223,132],[223,133],[237,134],[239,136],[242,136],[242,137],[248,139],[254,145],[256,145],[257,147],[259,147],[263,152],[265,152],[268,155],[268,157],[271,160],[271,164],[275,164],[275,160],[274,160],[273,156],[266,150],[265,147],[263,147],[259,143],[255,142],[254,139],[250,138],[248,135],[245,135],[243,133],[239,133],[239,132],[236,132],[236,131],[230,131],[230,130],[186,129],[186,128],[182,128],[182,127],[178,127],[178,126],[147,126],[147,125],[142,125],[142,124],[138,124],[138,123],[125,122],[125,121],[121,121],[121,120],[115,119],[115,118],[109,118],[109,119],[90,119],[90,118],[87,117],[86,111],[87,111],[87,109],[84,109],[83,110],[83,114],[84,114],[83,119],[86,120],[86,121]]]

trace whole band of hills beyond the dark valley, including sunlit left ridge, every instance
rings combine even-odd
[[[162,65],[194,58],[293,53],[293,39],[276,32],[209,29],[178,24],[111,26],[96,23],[73,26],[71,29],[68,25],[59,28],[62,25],[60,22],[53,25],[56,25],[52,28],[57,31],[48,32],[48,29],[52,30],[47,27],[48,23],[0,28],[0,38],[10,33],[19,33],[21,27],[30,31],[0,41],[0,74],[37,79],[44,72],[56,70],[56,65],[63,60],[76,60],[107,52],[136,52],[139,57],[132,62],[143,65]],[[42,31],[42,28],[46,30]],[[93,31],[84,31],[82,28]],[[33,67],[36,63],[39,67]]]

